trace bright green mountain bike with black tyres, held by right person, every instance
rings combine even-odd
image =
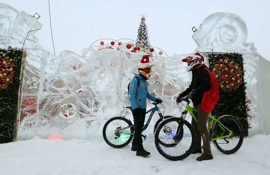
[[[189,114],[197,122],[197,110],[189,106],[189,99],[180,118],[168,118],[158,125],[155,132],[155,145],[163,157],[177,161],[189,156],[195,147],[195,132],[191,124],[186,121]],[[178,107],[180,105],[178,103]],[[181,109],[181,108],[180,108]],[[243,143],[243,126],[240,121],[232,115],[223,115],[218,119],[214,115],[208,116],[211,119],[210,137],[217,150],[225,154],[235,153]]]

